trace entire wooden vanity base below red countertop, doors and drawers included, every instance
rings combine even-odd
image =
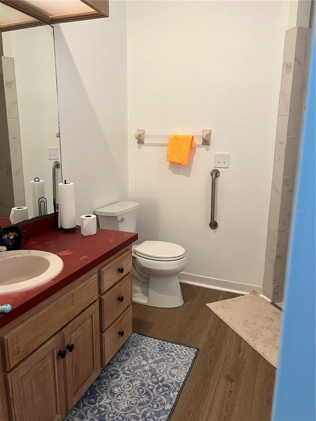
[[[132,256],[105,263],[0,329],[0,421],[61,421],[132,333]]]

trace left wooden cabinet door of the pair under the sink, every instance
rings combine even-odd
[[[6,374],[14,421],[59,421],[66,416],[62,335],[46,341]]]

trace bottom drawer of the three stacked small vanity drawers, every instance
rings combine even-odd
[[[102,367],[105,367],[133,331],[132,306],[129,306],[118,319],[101,334]],[[123,333],[120,336],[119,333]]]

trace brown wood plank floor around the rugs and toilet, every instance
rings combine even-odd
[[[237,295],[181,289],[181,307],[133,303],[134,332],[199,348],[170,421],[269,421],[276,369],[205,306]]]

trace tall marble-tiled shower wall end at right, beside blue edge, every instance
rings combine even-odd
[[[270,197],[263,294],[282,301],[312,30],[286,31]]]

